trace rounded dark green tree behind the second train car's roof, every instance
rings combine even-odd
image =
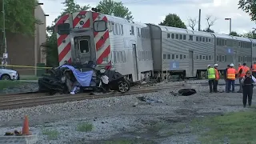
[[[182,22],[181,18],[177,14],[167,14],[165,20],[159,23],[161,26],[172,26],[182,29],[186,29],[186,25]]]

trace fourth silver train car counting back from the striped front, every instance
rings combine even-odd
[[[237,62],[246,63],[247,66],[252,64],[252,42],[249,38],[234,37],[237,43]],[[238,63],[237,63],[238,64]],[[238,67],[238,65],[236,65]]]

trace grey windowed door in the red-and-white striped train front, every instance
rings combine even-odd
[[[91,46],[90,36],[74,37],[75,56],[80,62],[88,62],[94,60],[94,50]]]

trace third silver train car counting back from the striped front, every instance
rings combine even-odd
[[[215,63],[218,64],[218,70],[221,72],[226,69],[230,63],[237,66],[238,47],[237,40],[233,36],[226,34],[214,34],[215,36]]]

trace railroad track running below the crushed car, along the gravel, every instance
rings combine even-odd
[[[172,88],[178,88],[183,85],[175,85],[171,86]],[[61,102],[73,102],[73,101],[81,101],[86,99],[96,99],[96,98],[110,98],[131,94],[145,94],[157,92],[158,90],[170,89],[170,86],[158,86],[158,87],[150,87],[150,88],[141,88],[130,90],[124,94],[119,92],[108,93],[108,94],[59,94],[59,95],[49,95],[49,96],[35,96],[34,98],[30,97],[30,94],[27,97],[22,96],[23,98],[14,98],[14,99],[0,99],[0,110],[10,110],[10,109],[18,109],[22,107],[30,107],[30,106],[40,106],[47,105],[53,103],[61,103]],[[26,95],[26,94],[25,94]],[[17,96],[17,95],[16,95]]]

